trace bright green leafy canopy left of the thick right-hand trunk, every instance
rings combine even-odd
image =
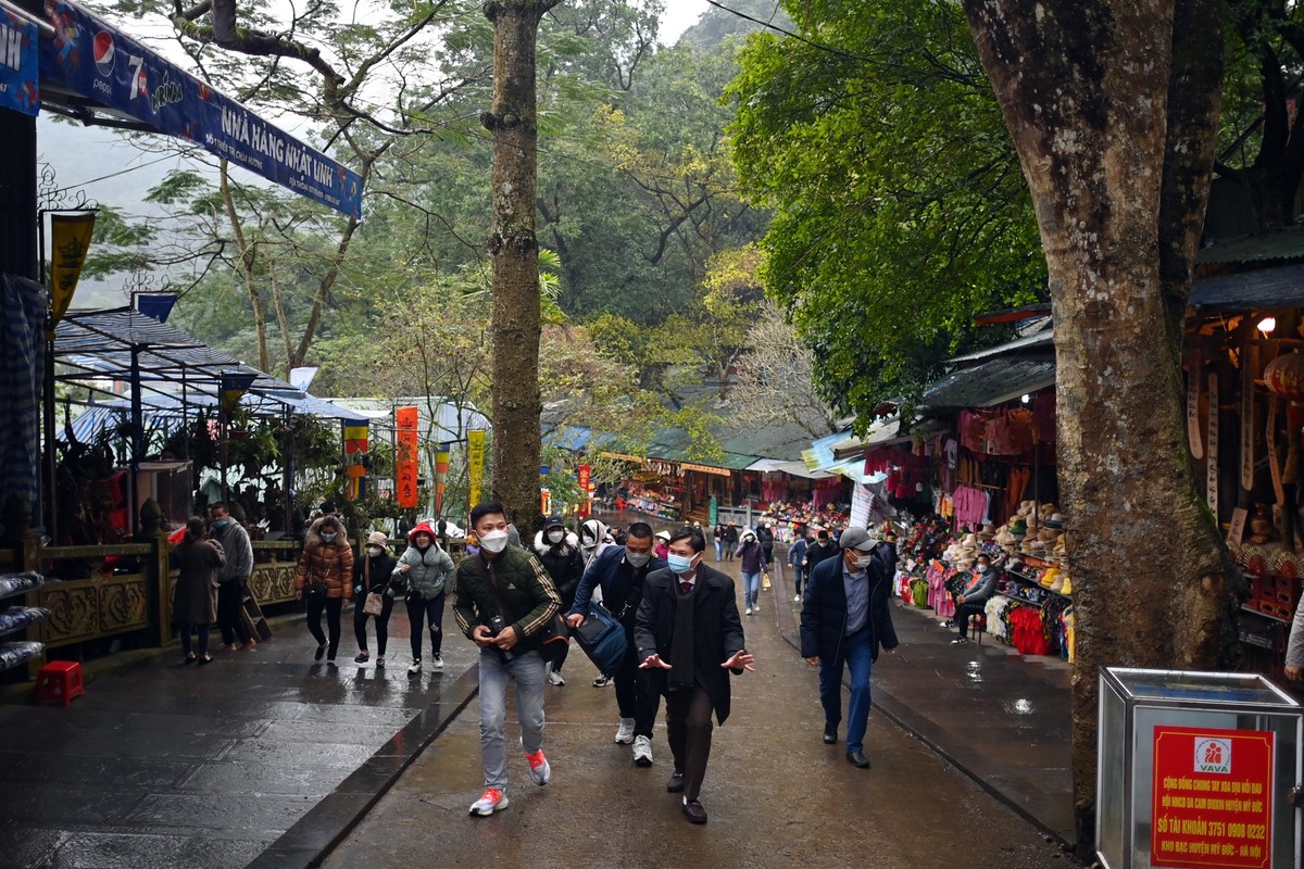
[[[745,189],[777,211],[767,292],[862,423],[978,336],[975,311],[1045,297],[1026,186],[964,12],[945,0],[786,3],[729,87]],[[985,336],[992,340],[999,336]]]

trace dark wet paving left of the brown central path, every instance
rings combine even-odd
[[[305,826],[343,829],[475,687],[459,683],[475,658],[460,634],[443,672],[409,680],[407,616],[390,621],[381,670],[352,663],[344,615],[338,671],[313,662],[299,616],[252,651],[214,651],[206,667],[181,666],[177,650],[102,661],[67,709],[10,698],[0,706],[0,866],[227,868],[263,852],[319,853],[327,842]],[[373,633],[373,655],[374,644]]]

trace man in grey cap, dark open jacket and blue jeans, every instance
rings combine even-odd
[[[897,646],[892,627],[892,580],[874,555],[874,541],[863,528],[848,528],[840,538],[841,558],[820,562],[806,586],[802,605],[802,657],[819,666],[819,696],[824,706],[824,743],[837,741],[842,720],[842,666],[852,674],[852,702],[846,710],[846,760],[867,769],[865,730],[870,720],[870,670],[879,649]]]

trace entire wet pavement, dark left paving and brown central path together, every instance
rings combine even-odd
[[[737,576],[737,562],[721,567]],[[634,767],[612,740],[614,691],[591,687],[578,649],[567,685],[548,688],[554,782],[529,784],[514,758],[511,808],[468,818],[481,782],[475,648],[446,612],[445,671],[409,681],[402,611],[386,670],[351,662],[346,612],[339,671],[313,663],[300,616],[209,667],[168,650],[89,670],[68,709],[0,705],[0,869],[271,869],[323,856],[339,868],[795,866],[815,855],[1073,865],[1043,835],[1072,830],[1067,664],[990,640],[952,646],[931,612],[895,610],[902,646],[875,667],[874,769],[857,770],[841,744],[820,743],[815,671],[792,648],[797,605],[775,580],[745,618],[760,668],[734,680],[733,715],[716,731],[705,829],[665,793],[664,723],[656,766]]]

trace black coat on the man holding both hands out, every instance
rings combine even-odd
[[[692,657],[702,672],[703,687],[711,694],[716,720],[729,718],[729,674],[743,670],[725,670],[720,664],[745,649],[742,619],[734,595],[734,581],[725,573],[705,564],[698,565],[696,601],[692,607]],[[679,577],[669,568],[648,573],[643,586],[643,601],[634,627],[634,640],[639,649],[639,662],[656,653],[670,661],[674,641],[674,611],[679,603]],[[653,685],[666,691],[666,670],[649,670]]]

